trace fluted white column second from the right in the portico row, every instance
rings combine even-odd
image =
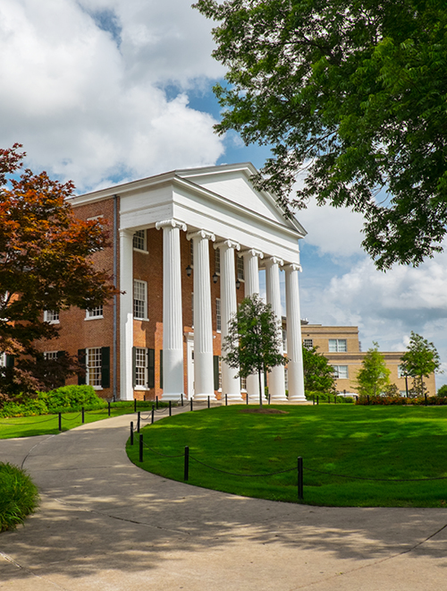
[[[266,296],[267,304],[271,304],[278,321],[278,335],[281,343],[280,353],[283,353],[281,288],[279,280],[280,265],[283,266],[283,261],[277,257],[271,257],[266,260]],[[287,400],[283,365],[276,365],[276,367],[272,368],[268,376],[268,393],[271,401]]]

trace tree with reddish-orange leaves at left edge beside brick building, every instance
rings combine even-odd
[[[111,277],[98,270],[92,254],[105,248],[100,221],[76,218],[66,201],[72,182],[61,184],[45,172],[21,175],[20,144],[0,150],[0,396],[30,395],[51,388],[77,369],[68,355],[43,359],[40,339],[55,338],[44,311],[104,304],[114,293]]]

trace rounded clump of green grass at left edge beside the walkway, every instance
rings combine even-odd
[[[38,506],[38,487],[21,468],[0,462],[0,532],[15,529]]]

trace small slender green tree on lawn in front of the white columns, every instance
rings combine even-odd
[[[281,351],[279,321],[272,306],[257,294],[240,302],[238,312],[228,322],[228,335],[223,341],[226,355],[223,361],[238,368],[238,377],[248,378],[257,373],[259,405],[262,407],[261,373],[276,365],[287,364]]]

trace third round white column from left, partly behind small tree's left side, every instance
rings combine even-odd
[[[234,266],[234,250],[240,250],[240,244],[232,240],[223,240],[215,244],[215,248],[220,250],[221,256],[221,320],[222,344],[228,335],[228,321],[238,311],[236,301],[236,273]],[[236,377],[239,373],[238,368],[232,368],[222,361],[222,397],[227,395],[228,400],[242,402],[240,396],[240,378]]]

